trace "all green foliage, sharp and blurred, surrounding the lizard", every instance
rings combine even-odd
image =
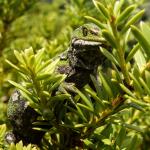
[[[148,150],[149,7],[148,0],[0,0],[0,149]],[[106,61],[79,88],[57,68],[73,31],[89,22],[107,42]],[[14,90],[19,102],[11,107]],[[15,138],[13,123],[21,128]]]

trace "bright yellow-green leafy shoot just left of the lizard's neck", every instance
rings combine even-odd
[[[19,62],[19,66],[12,64],[9,60],[6,61],[20,73],[22,79],[24,79],[22,84],[25,87],[11,80],[9,82],[23,91],[23,95],[30,101],[30,105],[37,109],[40,114],[45,115],[45,112],[51,114],[51,112],[46,111],[46,108],[49,107],[50,98],[54,98],[51,96],[52,92],[65,79],[65,76],[57,75],[54,72],[59,59],[44,61],[46,58],[44,49],[39,50],[37,54],[34,54],[32,48],[26,49],[21,53],[14,51],[14,54]],[[32,90],[29,91],[28,89]],[[59,96],[67,97],[67,95]]]

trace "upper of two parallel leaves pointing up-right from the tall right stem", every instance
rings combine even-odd
[[[130,14],[135,9],[135,5],[128,6],[117,18],[116,23],[120,24],[122,21],[126,21],[130,17]]]

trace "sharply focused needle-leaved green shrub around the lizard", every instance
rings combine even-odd
[[[142,2],[93,0],[93,4],[95,10],[90,12],[93,6],[85,0],[63,5],[66,6],[63,19],[70,19],[67,29],[72,31],[74,26],[84,23],[83,16],[87,14],[86,20],[100,28],[101,38],[108,45],[100,47],[106,63],[99,66],[96,76],[91,74],[91,83],[79,88],[65,82],[68,76],[58,72],[59,66],[68,64],[58,55],[68,42],[62,32],[42,49],[43,42],[39,47],[31,44],[33,48],[14,50],[15,62],[10,59],[6,62],[19,78],[10,79],[9,83],[38,114],[30,123],[32,129],[44,132],[41,143],[37,143],[40,149],[148,149],[150,27],[148,22],[140,21],[144,14],[140,10]],[[61,31],[66,29],[63,25]],[[65,33],[68,34],[66,30]],[[44,35],[44,40],[50,38],[48,32]],[[13,111],[14,107],[9,112]],[[28,126],[23,128],[28,130]],[[23,146],[27,144],[24,138],[19,138],[23,142],[4,147],[5,132],[6,126],[2,125],[2,148],[36,149],[32,145]]]

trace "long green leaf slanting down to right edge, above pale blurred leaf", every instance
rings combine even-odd
[[[145,39],[143,33],[135,26],[131,25],[131,31],[134,34],[135,38],[138,40],[142,48],[144,49],[145,53],[148,57],[150,57],[150,44]]]

